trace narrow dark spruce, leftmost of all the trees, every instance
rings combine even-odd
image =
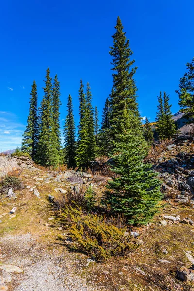
[[[28,153],[32,160],[35,159],[37,143],[38,143],[38,113],[37,113],[37,86],[35,80],[32,84],[32,90],[30,93],[30,109],[27,120],[26,130],[23,134],[22,148],[23,152]]]

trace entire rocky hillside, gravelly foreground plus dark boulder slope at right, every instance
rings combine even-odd
[[[148,160],[162,180],[159,213],[146,226],[129,227],[138,245],[134,252],[97,263],[68,250],[71,240],[50,200],[91,183],[100,197],[110,177],[48,171],[22,157],[1,156],[1,175],[16,166],[24,187],[0,200],[0,291],[194,290],[193,138],[156,146]]]

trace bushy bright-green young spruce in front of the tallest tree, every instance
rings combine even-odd
[[[129,112],[124,110],[123,116],[120,141],[114,143],[113,171],[116,178],[108,182],[103,200],[113,213],[124,215],[129,224],[146,224],[162,198],[160,181],[151,170],[152,165],[143,163],[147,146],[139,129],[131,129],[134,114],[129,116]]]

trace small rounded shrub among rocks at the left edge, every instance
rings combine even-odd
[[[15,191],[22,189],[23,187],[21,179],[16,176],[6,175],[0,181],[0,193],[6,193],[10,188]]]

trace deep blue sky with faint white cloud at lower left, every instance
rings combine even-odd
[[[1,2],[0,151],[20,146],[33,80],[39,101],[49,66],[61,83],[61,124],[68,94],[78,124],[80,78],[89,81],[100,115],[112,88],[109,46],[116,18],[133,50],[142,116],[155,120],[157,95],[178,111],[178,80],[194,56],[193,0],[33,0]]]

